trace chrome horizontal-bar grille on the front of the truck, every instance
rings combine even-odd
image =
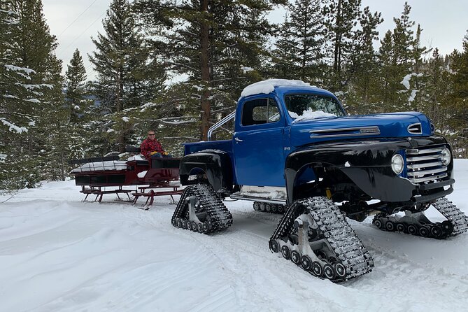
[[[408,179],[413,183],[425,183],[446,178],[447,166],[441,159],[443,149],[444,146],[406,150]]]

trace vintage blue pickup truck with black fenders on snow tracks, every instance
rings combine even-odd
[[[172,224],[213,233],[232,224],[225,197],[282,213],[269,248],[320,278],[346,281],[374,267],[346,218],[434,239],[465,232],[451,201],[453,157],[422,113],[346,114],[327,90],[299,80],[264,80],[243,90],[230,140],[185,144],[187,185]],[[431,222],[433,206],[444,222]],[[397,214],[398,213],[398,214]]]

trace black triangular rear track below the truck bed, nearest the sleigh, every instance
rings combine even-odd
[[[194,214],[190,218],[191,205]],[[232,215],[211,185],[197,184],[185,187],[171,222],[174,227],[210,234],[231,226]]]

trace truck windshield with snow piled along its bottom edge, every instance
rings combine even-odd
[[[288,94],[285,96],[288,113],[295,121],[344,116],[338,101],[318,94]]]

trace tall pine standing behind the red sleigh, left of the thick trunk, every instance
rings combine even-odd
[[[122,123],[122,118],[128,118],[127,110],[153,98],[153,92],[164,90],[165,73],[157,70],[155,58],[148,58],[141,28],[128,0],[111,2],[103,27],[105,33],[92,39],[96,51],[90,55],[90,61],[98,73],[97,96],[112,114],[106,116],[104,123],[115,130],[116,135],[110,139],[123,152],[125,144],[132,143],[133,133],[127,122]],[[150,66],[146,66],[147,62]]]

